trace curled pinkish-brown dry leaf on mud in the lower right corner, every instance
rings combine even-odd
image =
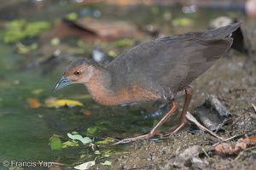
[[[215,152],[219,156],[235,156],[238,155],[242,150],[245,150],[249,142],[250,140],[246,138],[238,139],[236,144],[218,144],[215,146]]]

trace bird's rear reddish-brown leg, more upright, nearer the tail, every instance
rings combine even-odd
[[[172,133],[177,133],[177,131],[179,131],[186,123],[188,123],[186,120],[186,113],[189,109],[189,103],[192,98],[193,90],[189,86],[187,88],[185,88],[184,90],[185,90],[185,94],[186,94],[186,99],[185,99],[185,103],[183,105],[182,116],[180,117],[179,123],[176,126],[168,129],[168,131],[172,131]]]

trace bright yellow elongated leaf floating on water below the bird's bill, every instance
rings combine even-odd
[[[81,102],[76,100],[71,100],[71,99],[57,99],[46,104],[47,107],[55,107],[55,108],[60,108],[65,105],[67,105],[68,107],[74,107],[76,105],[84,106],[84,104],[82,104]]]

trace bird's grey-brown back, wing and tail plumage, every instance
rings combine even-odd
[[[107,65],[113,90],[136,84],[171,99],[207,71],[230,48],[241,23],[144,42]]]

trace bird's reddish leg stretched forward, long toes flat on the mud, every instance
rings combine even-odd
[[[174,113],[174,111],[177,110],[177,101],[175,99],[172,99],[172,108],[171,110],[166,114],[166,116],[164,116],[160,122],[157,123],[157,125],[155,125],[155,127],[148,133],[142,136],[137,136],[134,138],[129,138],[129,139],[122,139],[117,143],[114,144],[122,144],[122,143],[126,143],[126,142],[131,142],[131,141],[135,141],[137,139],[150,139],[154,136],[154,134],[158,131],[158,129],[166,122],[166,120],[172,116],[172,114]]]

